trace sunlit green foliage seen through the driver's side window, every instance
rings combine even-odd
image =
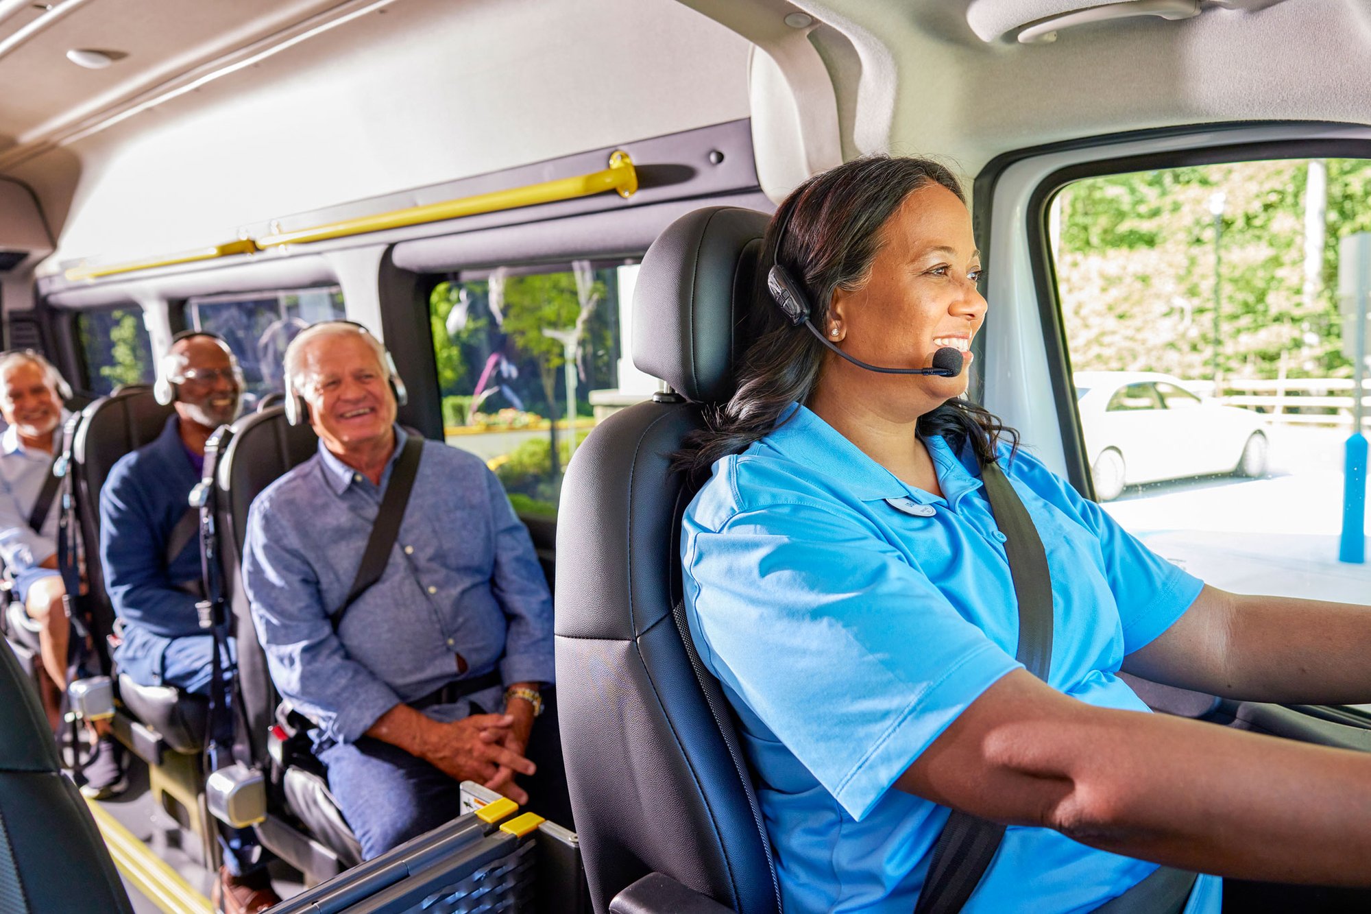
[[[1304,279],[1308,161],[1241,162],[1078,181],[1054,202],[1056,270],[1076,371],[1211,377],[1213,217],[1222,236],[1219,361],[1224,376],[1345,375],[1338,239],[1371,229],[1371,162],[1327,162],[1323,273]]]

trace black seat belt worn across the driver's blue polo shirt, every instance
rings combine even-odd
[[[990,511],[1008,539],[1005,556],[1019,602],[1019,646],[1015,657],[1043,682],[1052,668],[1052,575],[1047,553],[1028,509],[998,462],[982,467]],[[934,847],[928,876],[914,914],[956,914],[980,884],[1004,839],[1005,826],[953,810]],[[1185,907],[1196,874],[1160,867],[1112,899],[1098,913],[1171,914]]]

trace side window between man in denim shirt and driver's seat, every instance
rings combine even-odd
[[[555,517],[576,443],[655,390],[622,364],[636,274],[636,263],[587,261],[499,268],[429,296],[446,439],[488,462],[520,515]]]

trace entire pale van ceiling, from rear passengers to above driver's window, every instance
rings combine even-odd
[[[77,5],[8,49],[40,11],[0,4],[12,14],[0,22],[11,88],[0,173],[37,192],[53,262],[218,243],[276,215],[749,114],[769,191],[836,148],[936,152],[971,174],[1071,136],[1371,115],[1371,10],[1356,0],[1206,0],[1193,19],[1091,25],[1039,45],[972,30],[968,7],[978,23],[1012,21],[1002,0],[66,0],[55,11]],[[1064,5],[1098,4],[1017,4]],[[799,33],[828,85],[788,37],[797,11],[818,23]],[[754,71],[751,97],[750,41],[786,67],[784,80]],[[70,48],[129,56],[82,70]],[[809,122],[802,155],[776,139],[787,117]]]

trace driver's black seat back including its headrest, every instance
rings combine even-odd
[[[694,491],[669,454],[732,392],[735,336],[768,217],[673,222],[643,258],[633,361],[658,395],[577,447],[558,512],[562,752],[596,911],[650,871],[747,914],[776,914],[771,844],[732,712],[680,618],[680,519]]]

